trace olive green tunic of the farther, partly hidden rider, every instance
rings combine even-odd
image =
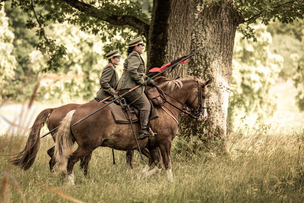
[[[96,96],[99,100],[103,100],[108,96],[113,96],[115,94],[114,88],[118,83],[118,75],[115,71],[115,67],[116,66],[113,63],[109,63],[104,67],[102,76],[100,76],[99,79],[100,89]]]

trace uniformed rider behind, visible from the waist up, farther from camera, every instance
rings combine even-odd
[[[115,68],[116,65],[119,64],[121,56],[118,50],[114,50],[107,53],[106,57],[108,58],[109,63],[104,67],[102,76],[100,76],[100,89],[95,98],[97,101],[101,101],[108,96],[117,96],[116,91],[114,90],[118,83],[118,75]],[[113,100],[114,97],[111,97],[108,100]]]

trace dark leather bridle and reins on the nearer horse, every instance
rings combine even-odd
[[[201,117],[201,114],[204,116],[205,111],[203,111],[204,109],[207,109],[206,106],[202,106],[202,99],[204,99],[204,104],[205,104],[205,98],[206,95],[205,93],[203,93],[201,91],[201,84],[199,81],[197,82],[197,95],[194,98],[194,100],[192,101],[192,103],[190,105],[192,105],[194,103],[194,101],[196,100],[196,98],[198,97],[198,105],[197,107],[195,107],[194,109],[192,109],[191,107],[189,107],[188,105],[182,103],[181,101],[177,100],[176,98],[174,98],[173,96],[168,95],[167,93],[164,92],[165,95],[169,96],[170,98],[174,99],[175,101],[177,101],[178,103],[180,103],[183,106],[183,109],[178,108],[177,106],[175,106],[174,104],[170,103],[170,101],[166,100],[166,103],[170,104],[171,106],[173,106],[174,108],[180,110],[181,112],[187,114],[188,116],[190,116],[191,118],[194,119],[199,119]],[[189,113],[190,112],[190,113]],[[193,115],[192,115],[192,114]]]

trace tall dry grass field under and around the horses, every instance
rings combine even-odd
[[[284,87],[288,88],[288,84]],[[234,132],[225,138],[226,155],[212,148],[196,154],[178,153],[180,150],[173,146],[173,182],[167,181],[164,170],[139,178],[147,159],[141,161],[138,153],[130,172],[126,170],[124,152],[115,151],[116,165],[113,165],[111,150],[99,148],[93,152],[90,162],[91,178],[82,175],[78,163],[74,167],[76,185],[67,186],[60,175],[49,172],[46,151],[53,146],[53,141],[42,139],[36,161],[26,172],[11,166],[8,157],[0,156],[0,199],[11,202],[304,202],[303,114],[286,99],[290,97],[279,95],[278,112],[263,124],[249,116],[237,120]],[[3,134],[0,154],[19,152],[26,139],[16,133]]]

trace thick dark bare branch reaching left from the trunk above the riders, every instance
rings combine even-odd
[[[130,25],[137,29],[145,37],[148,36],[150,25],[142,21],[141,19],[130,16],[130,15],[105,15],[106,11],[101,11],[89,4],[80,2],[78,0],[63,0],[65,3],[69,4],[71,7],[91,16],[93,18],[106,21],[113,25]]]

